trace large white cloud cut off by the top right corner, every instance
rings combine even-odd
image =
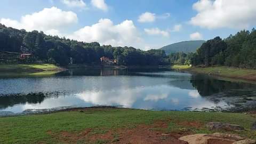
[[[255,0],[200,0],[193,5],[198,13],[190,23],[209,29],[247,28],[256,23]]]

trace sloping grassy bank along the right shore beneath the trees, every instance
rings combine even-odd
[[[174,65],[173,69],[180,69],[191,71],[193,73],[206,74],[212,76],[220,76],[227,78],[245,79],[248,81],[256,81],[256,70],[255,69],[241,69],[241,68],[231,68],[225,66],[219,67],[188,67],[188,66],[178,66]]]

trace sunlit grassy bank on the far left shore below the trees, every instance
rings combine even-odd
[[[0,65],[0,76],[46,76],[61,71],[62,68],[52,64],[18,64]]]

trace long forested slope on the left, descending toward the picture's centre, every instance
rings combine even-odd
[[[70,58],[75,64],[97,65],[105,56],[117,59],[119,65],[167,65],[163,50],[142,51],[133,47],[113,47],[97,42],[78,42],[65,37],[45,35],[43,31],[18,30],[0,24],[0,51],[30,52],[36,60],[68,65]]]

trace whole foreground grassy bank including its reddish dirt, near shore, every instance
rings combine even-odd
[[[147,133],[161,138],[161,133],[213,133],[205,124],[216,121],[246,129],[225,133],[256,139],[256,132],[250,130],[255,118],[245,114],[87,108],[0,118],[0,143],[122,143],[127,133],[134,137],[145,134],[145,138]]]

